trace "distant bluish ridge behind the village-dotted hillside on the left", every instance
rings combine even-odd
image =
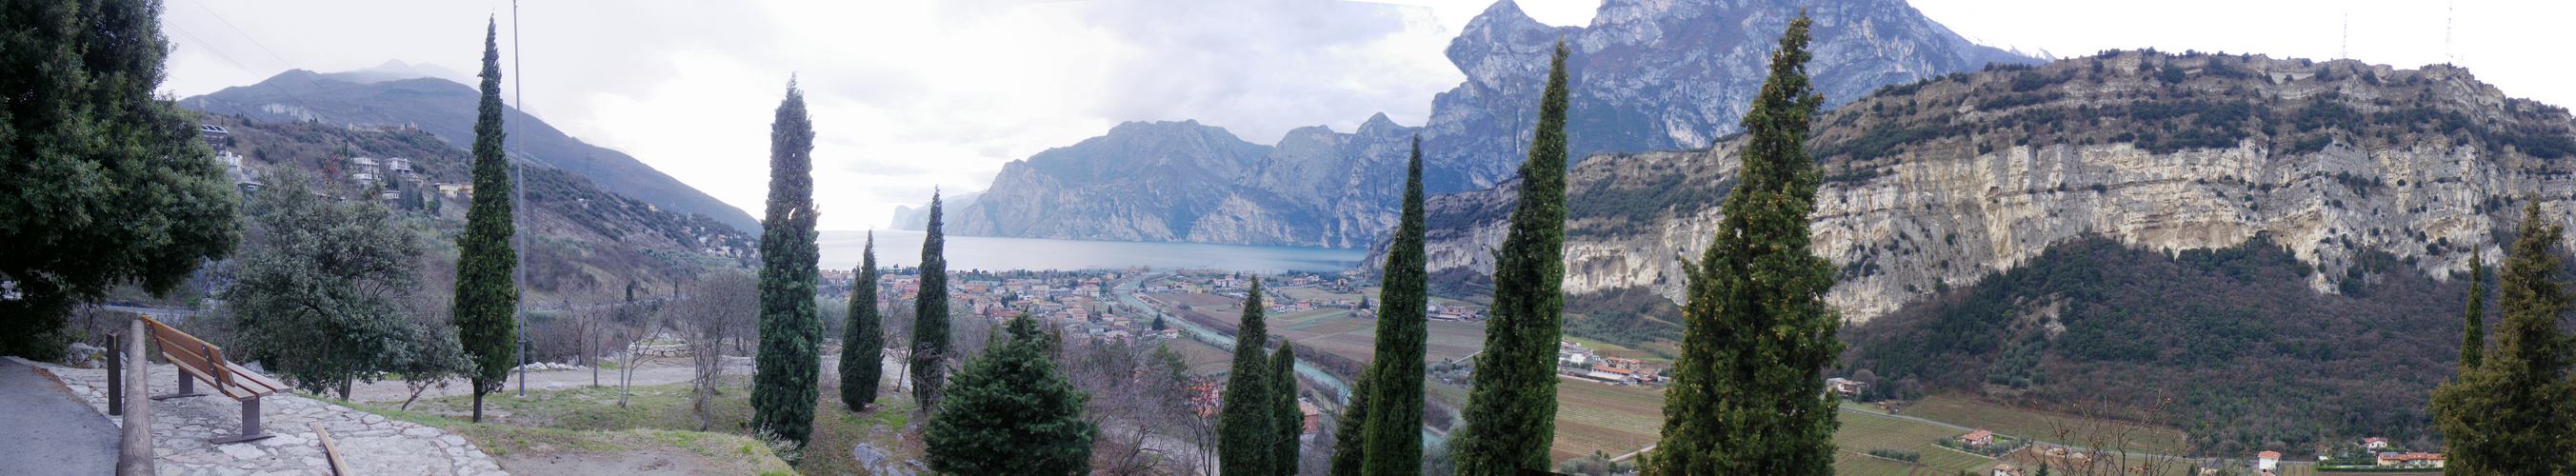
[[[394,64],[399,62],[386,67]],[[474,87],[438,77],[392,80],[397,75],[386,72],[386,67],[332,75],[291,69],[258,85],[185,98],[180,105],[206,113],[234,113],[250,121],[319,121],[348,129],[417,126],[448,144],[474,144],[474,105],[479,98]],[[402,75],[420,75],[420,69],[430,67],[404,67]],[[626,152],[572,139],[518,108],[507,108],[505,121],[510,124],[507,152],[513,160],[590,178],[611,193],[631,196],[657,208],[706,214],[734,229],[760,229],[760,221],[742,208],[726,206],[662,170],[636,162]]]

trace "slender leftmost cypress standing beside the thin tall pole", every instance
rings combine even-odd
[[[474,113],[474,203],[466,208],[466,232],[456,237],[456,301],[448,316],[456,319],[456,337],[474,355],[474,422],[482,422],[484,394],[500,391],[510,381],[518,360],[518,250],[510,234],[510,160],[502,157],[500,131],[500,21],[484,26],[482,103]]]

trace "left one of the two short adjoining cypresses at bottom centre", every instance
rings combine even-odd
[[[1226,373],[1226,401],[1216,414],[1216,471],[1224,476],[1270,476],[1270,443],[1273,417],[1270,417],[1270,360],[1262,347],[1270,345],[1270,324],[1262,316],[1262,280],[1252,280],[1252,293],[1244,293],[1244,316],[1236,322],[1242,332],[1234,332],[1234,368]]]

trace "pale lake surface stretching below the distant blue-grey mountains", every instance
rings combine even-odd
[[[876,265],[920,265],[922,232],[876,232]],[[1368,250],[1340,247],[1252,247],[1252,244],[1200,244],[1200,242],[1084,242],[1084,239],[1015,239],[1015,237],[956,237],[948,234],[948,270],[1350,270],[1360,268]],[[868,232],[822,232],[822,268],[858,268]]]

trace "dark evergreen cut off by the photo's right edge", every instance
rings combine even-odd
[[[2432,414],[2450,445],[2445,473],[2550,476],[2576,471],[2576,389],[2568,383],[2568,337],[2558,319],[2568,311],[2563,270],[2553,250],[2561,226],[2540,219],[2540,201],[2522,208],[2504,273],[2496,350],[2434,389]]]

